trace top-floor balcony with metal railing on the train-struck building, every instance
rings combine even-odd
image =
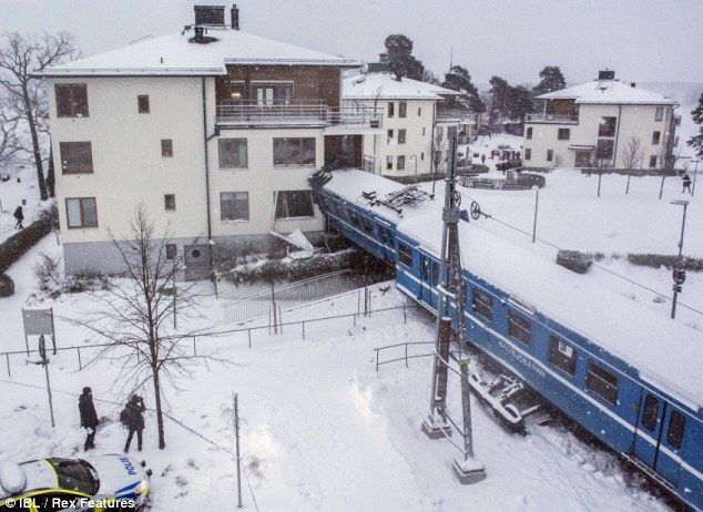
[[[356,133],[383,127],[383,109],[332,107],[322,102],[220,103],[215,123],[220,127],[319,126]]]

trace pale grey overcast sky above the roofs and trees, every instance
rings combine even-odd
[[[85,55],[179,32],[207,0],[0,0],[0,32],[77,35]],[[240,0],[242,30],[360,61],[404,33],[441,76],[537,83],[546,65],[575,84],[615,70],[626,82],[703,82],[700,0]],[[226,21],[230,7],[226,6]]]

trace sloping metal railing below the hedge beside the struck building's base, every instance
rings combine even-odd
[[[275,288],[273,290],[273,297],[272,291],[268,290],[223,304],[224,322],[233,324],[267,315],[274,301],[277,309],[284,309],[342,294],[356,287],[357,284],[354,280],[354,274],[349,269],[312,277]]]

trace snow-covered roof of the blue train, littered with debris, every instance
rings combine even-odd
[[[431,184],[424,184],[425,187]],[[383,206],[369,206],[364,193],[378,198],[404,185],[356,170],[335,171],[324,188],[368,207],[376,216],[434,254],[441,246],[444,182],[432,201],[405,206],[403,216]],[[466,207],[466,206],[462,206]],[[502,239],[485,229],[490,221],[459,223],[463,268],[508,294],[527,300],[538,311],[591,339],[640,372],[652,387],[703,413],[703,339],[701,332],[638,304],[623,294],[595,285],[556,264],[556,249],[539,252]],[[531,244],[530,244],[531,246]]]

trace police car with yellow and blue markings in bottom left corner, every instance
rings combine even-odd
[[[145,462],[122,455],[0,465],[0,512],[135,511],[150,491]]]

